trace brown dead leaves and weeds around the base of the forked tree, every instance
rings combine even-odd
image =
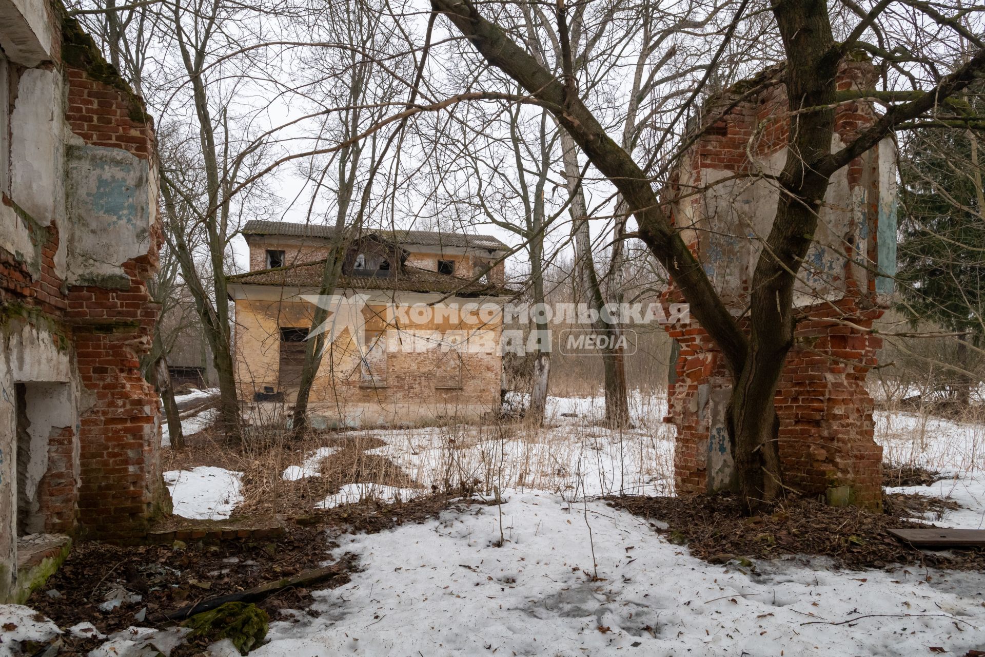
[[[834,507],[804,497],[788,497],[767,512],[744,516],[738,496],[610,497],[609,503],[669,527],[658,529],[690,554],[712,563],[732,558],[778,558],[784,555],[828,557],[852,569],[891,564],[929,565],[985,570],[985,550],[927,554],[886,534],[890,527],[926,527],[893,513]]]

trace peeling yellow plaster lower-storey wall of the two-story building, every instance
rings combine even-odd
[[[282,390],[279,382],[279,328],[309,326],[314,305],[301,300],[296,291],[249,288],[244,293],[249,298],[236,299],[236,380],[240,399],[248,404],[248,415],[253,422],[261,423],[276,417],[279,411],[272,402],[257,401],[257,393],[266,389],[283,392],[288,406],[296,397],[296,389]],[[418,299],[434,302],[441,297],[398,295],[408,296],[407,302]],[[445,299],[449,305],[468,302],[475,299]],[[309,410],[313,423],[349,427],[426,424],[442,417],[478,418],[498,408],[502,374],[498,353],[501,313],[488,322],[478,317],[470,324],[431,320],[414,324],[412,329],[398,329],[385,303],[385,299],[378,297],[375,302],[368,301],[362,310],[364,332],[370,341],[382,334],[381,345],[390,345],[391,349],[376,361],[378,368],[373,371],[372,380],[365,380],[361,376],[360,354],[367,353],[366,337],[359,337],[363,343],[360,350],[349,329],[341,332],[335,348],[326,353],[311,388]],[[442,345],[434,332],[446,335],[448,331],[461,330],[468,332],[466,339],[474,341],[474,348],[463,350],[461,379],[456,384],[441,378],[443,360],[448,358],[450,348]],[[415,350],[408,353],[405,350],[411,344]],[[488,348],[477,349],[480,345]]]

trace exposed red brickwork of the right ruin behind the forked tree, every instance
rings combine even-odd
[[[838,88],[869,88],[873,74],[865,62],[846,64],[839,73]],[[767,78],[764,74],[751,87]],[[679,172],[680,179],[700,179],[702,169],[755,171],[748,155],[751,144],[757,159],[785,148],[789,119],[783,118],[787,100],[782,84],[757,93],[736,91],[723,104],[728,107],[730,102],[734,104],[725,115],[691,147],[685,160],[689,168]],[[715,115],[714,111],[711,108],[709,115]],[[874,117],[867,103],[842,103],[836,109],[836,132],[848,141]],[[796,346],[787,357],[775,398],[784,484],[801,493],[826,496],[831,503],[872,508],[882,506],[883,449],[873,439],[873,401],[864,383],[868,370],[877,363],[882,339],[864,329],[871,328],[884,310],[876,297],[875,277],[864,270],[860,274],[849,262],[852,255],[858,260],[858,255],[871,258],[875,254],[880,193],[877,161],[867,154],[848,167],[849,187],[862,190],[867,199],[864,207],[855,209],[851,222],[868,222],[863,230],[851,223],[849,232],[868,243],[856,250],[852,238],[845,239],[845,266],[830,273],[828,281],[832,287],[841,286],[843,297],[828,296],[829,300],[801,308],[804,319],[797,325]],[[700,200],[684,202],[699,204]],[[697,239],[691,248],[700,258],[701,237]],[[737,284],[739,292],[726,297],[726,302],[739,314],[750,286],[745,279]],[[668,296],[677,300],[679,293],[672,290]],[[720,447],[722,453],[727,451],[721,442],[727,436],[721,414],[714,417],[712,407],[717,403],[720,409],[722,399],[727,399],[731,376],[721,353],[695,322],[667,328],[681,347],[667,418],[678,429],[675,484],[678,493],[707,493],[721,488],[719,480],[709,478],[709,464],[717,457],[712,452]],[[720,393],[719,398],[709,402],[714,391]]]

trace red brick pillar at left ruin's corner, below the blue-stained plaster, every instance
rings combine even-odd
[[[158,318],[146,284],[151,267],[144,260],[124,265],[131,282],[127,290],[79,286],[68,296],[85,387],[80,520],[92,536],[123,541],[146,534],[147,521],[166,494],[158,394],[140,370]]]

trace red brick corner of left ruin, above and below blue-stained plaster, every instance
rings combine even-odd
[[[84,58],[73,63],[66,67],[66,120],[72,132],[87,145],[149,160],[156,143],[143,101],[114,79],[94,75]],[[158,394],[140,370],[158,320],[159,306],[147,284],[162,241],[161,224],[155,223],[147,253],[122,263],[126,281],[119,287],[72,286],[68,293],[66,317],[73,326],[84,396],[91,402],[81,418],[80,519],[91,535],[102,538],[143,537],[166,495]]]

